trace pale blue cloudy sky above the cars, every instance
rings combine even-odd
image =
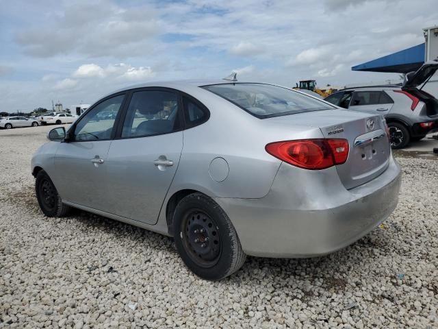
[[[231,71],[284,86],[398,79],[351,66],[424,42],[436,1],[0,0],[0,111]]]

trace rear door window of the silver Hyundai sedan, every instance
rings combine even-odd
[[[176,93],[162,90],[133,93],[123,123],[122,138],[175,132],[180,128],[178,112]]]

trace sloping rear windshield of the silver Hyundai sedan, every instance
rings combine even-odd
[[[272,84],[212,84],[203,88],[260,119],[334,108],[324,101]]]

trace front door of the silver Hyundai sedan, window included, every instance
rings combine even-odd
[[[64,201],[107,210],[107,159],[118,117],[97,120],[110,108],[121,114],[125,94],[107,97],[81,117],[68,131],[70,141],[60,143],[52,180]]]

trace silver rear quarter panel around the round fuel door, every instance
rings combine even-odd
[[[268,143],[321,137],[318,128],[281,127],[257,119],[207,90],[188,90],[210,111],[202,125],[185,130],[181,161],[169,195],[190,188],[211,197],[260,198],[274,181],[281,160],[265,150]],[[211,178],[215,158],[227,161],[229,173],[222,182]]]

